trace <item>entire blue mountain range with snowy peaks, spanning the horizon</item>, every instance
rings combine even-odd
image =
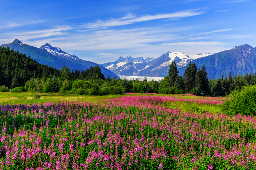
[[[8,46],[20,53],[31,55],[37,62],[55,68],[67,66],[74,71],[75,69],[82,70],[96,65],[96,63],[84,61],[76,55],[70,55],[60,48],[52,47],[48,43],[36,48],[15,39],[12,43],[1,46]],[[146,59],[143,57],[133,58],[128,55],[125,58],[120,56],[114,62],[100,65],[105,77],[108,75],[111,78],[119,78],[119,76],[164,77],[167,75],[172,61],[177,63],[179,74],[182,75],[188,63],[191,62],[196,63],[198,68],[204,65],[210,79],[221,78],[222,75],[226,77],[229,72],[232,76],[238,74],[244,76],[246,72],[253,74],[256,71],[256,48],[244,44],[215,54],[201,53],[198,55],[188,55],[181,51],[169,51],[157,58],[148,57]]]

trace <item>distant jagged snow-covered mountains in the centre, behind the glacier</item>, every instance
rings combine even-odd
[[[211,53],[201,53],[198,55],[188,55],[183,52],[167,52],[158,58],[143,57],[125,58],[119,57],[115,62],[101,64],[103,67],[111,70],[117,75],[126,76],[149,76],[149,77],[164,77],[167,75],[169,65],[172,61],[177,63],[178,68],[186,66],[190,61],[212,55]]]

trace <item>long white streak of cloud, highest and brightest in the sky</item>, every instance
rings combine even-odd
[[[189,10],[189,11],[174,12],[170,14],[145,15],[140,17],[136,17],[135,15],[128,14],[127,16],[122,18],[109,19],[106,21],[98,20],[95,23],[86,24],[84,27],[99,28],[99,27],[123,26],[123,25],[134,24],[134,23],[145,22],[145,21],[156,20],[156,19],[191,17],[195,15],[200,15],[203,13],[204,12],[202,11]]]

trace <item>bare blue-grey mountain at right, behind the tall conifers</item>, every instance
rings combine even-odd
[[[256,49],[244,44],[198,58],[191,63],[196,63],[198,68],[204,65],[210,79],[221,78],[222,74],[226,77],[229,71],[232,76],[238,74],[244,76],[246,72],[253,74],[256,71]],[[183,74],[186,68],[187,66],[180,68],[180,73]]]

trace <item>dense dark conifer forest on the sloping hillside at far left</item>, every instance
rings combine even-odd
[[[58,75],[58,69],[48,67],[9,47],[0,47],[0,85],[24,86],[30,78],[49,78]]]

